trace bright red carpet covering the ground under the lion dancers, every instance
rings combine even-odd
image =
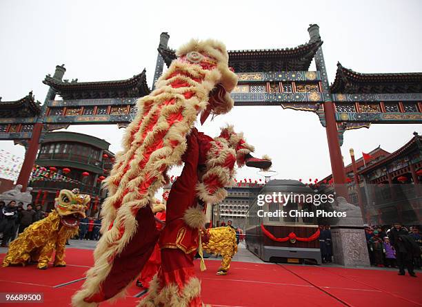
[[[4,255],[1,255],[2,258]],[[68,306],[70,297],[79,289],[83,273],[93,264],[92,251],[68,248],[66,268],[36,266],[0,269],[0,292],[41,292],[43,304],[10,304],[10,306]],[[199,271],[205,304],[222,306],[422,306],[422,275],[398,276],[396,271],[328,268],[232,262],[227,276],[215,275],[220,262],[205,261],[208,270]],[[76,282],[74,282],[76,281]],[[73,282],[70,284],[66,284]],[[134,297],[141,289],[132,286],[125,299],[117,304],[137,305]],[[9,305],[8,305],[9,306]]]

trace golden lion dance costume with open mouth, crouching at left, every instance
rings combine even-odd
[[[54,250],[54,266],[66,266],[66,240],[77,235],[89,202],[90,196],[79,194],[78,189],[61,190],[52,213],[28,226],[10,243],[3,266],[38,262],[38,268],[46,270]]]

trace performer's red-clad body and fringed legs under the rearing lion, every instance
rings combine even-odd
[[[205,169],[205,165],[200,167],[199,163],[205,162],[205,150],[212,138],[199,134],[194,128],[187,140],[188,149],[182,156],[185,166],[170,190],[166,224],[159,239],[161,270],[140,306],[165,306],[170,303],[165,299],[172,293],[178,294],[173,295],[179,304],[174,306],[202,304],[193,260],[199,245],[199,229],[205,222],[205,208],[199,204],[195,187],[202,176],[201,169]]]

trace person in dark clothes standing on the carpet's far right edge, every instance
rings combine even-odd
[[[408,236],[408,231],[401,226],[401,223],[394,223],[394,227],[390,231],[390,242],[396,250],[396,260],[399,265],[399,275],[405,275],[405,266],[408,268],[408,273],[412,277],[416,277],[413,271],[412,264],[412,248],[409,248],[411,244],[405,242],[404,237]]]

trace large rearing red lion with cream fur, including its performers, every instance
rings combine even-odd
[[[157,240],[161,270],[140,306],[202,304],[193,257],[205,221],[204,204],[225,198],[234,163],[248,163],[253,147],[232,127],[225,127],[214,139],[194,128],[199,114],[203,123],[208,115],[225,114],[234,105],[230,92],[237,75],[228,67],[225,46],[192,40],[177,55],[156,89],[137,101],[137,116],[126,129],[123,151],[105,180],[109,194],[101,211],[103,236],[94,251],[95,264],[72,298],[73,306],[97,306],[124,295]],[[168,169],[182,162],[181,176],[168,196],[166,224],[159,233],[152,198],[168,182]],[[201,178],[199,166],[205,168]]]

